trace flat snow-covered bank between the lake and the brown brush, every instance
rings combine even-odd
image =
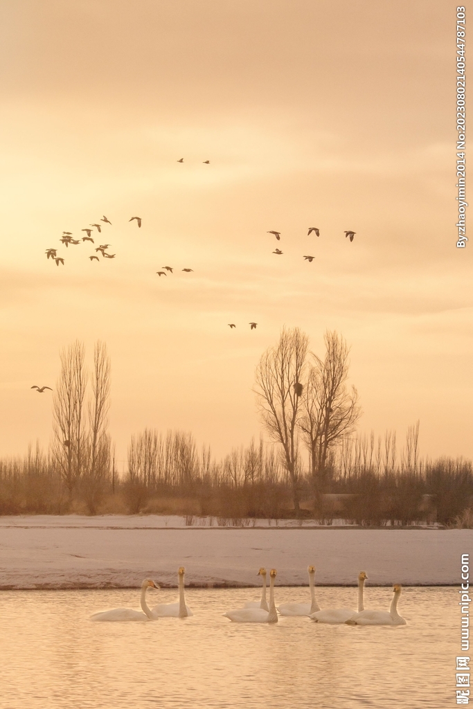
[[[262,522],[262,520],[260,520]],[[265,520],[265,525],[267,521]],[[277,568],[281,586],[456,585],[473,530],[186,526],[160,515],[0,517],[0,588],[130,588],[150,577],[189,586],[258,586]]]

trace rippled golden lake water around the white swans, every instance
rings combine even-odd
[[[92,623],[139,608],[139,590],[1,591],[1,709],[443,709],[455,705],[457,588],[404,588],[408,625],[321,625],[280,618],[240,625],[221,615],[252,589],[189,589],[193,618]],[[317,588],[322,608],[353,606],[355,588]],[[148,591],[148,603],[176,600]],[[308,588],[276,588],[277,603]],[[390,588],[365,591],[388,609]]]

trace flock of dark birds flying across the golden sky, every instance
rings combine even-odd
[[[179,160],[177,160],[177,162],[184,162],[184,157],[181,157]],[[210,160],[204,160],[203,164],[207,164],[207,165],[210,164]],[[138,224],[138,228],[141,228],[142,218],[141,217],[131,217],[128,221],[133,221],[133,220],[136,220],[136,223]],[[111,221],[105,215],[100,219],[100,221],[104,222],[104,224],[111,225]],[[60,238],[60,242],[62,242],[62,244],[64,244],[66,248],[68,248],[69,245],[77,246],[81,242],[84,243],[86,241],[89,241],[92,244],[94,244],[95,243],[94,239],[91,237],[92,231],[94,228],[96,228],[97,233],[100,234],[104,224],[98,224],[98,223],[90,224],[89,226],[91,228],[82,229],[82,231],[87,233],[87,236],[83,236],[82,238],[79,238],[79,239],[73,239],[72,232],[63,231],[62,237]],[[96,232],[94,232],[94,234],[95,233]],[[267,233],[273,234],[277,238],[278,241],[281,240],[281,232],[280,231],[270,230]],[[318,227],[315,227],[315,226],[311,226],[308,228],[307,235],[310,236],[311,233],[315,233],[316,236],[321,235],[320,230],[318,229]],[[355,237],[355,233],[356,233],[355,231],[347,230],[347,231],[345,231],[345,238],[349,238],[350,241],[353,241],[353,238]],[[97,256],[97,253],[101,253],[102,258],[114,259],[116,257],[116,254],[107,253],[107,249],[110,246],[111,246],[111,244],[100,244],[98,247],[95,247],[95,254],[89,256],[90,261],[100,261],[99,256]],[[57,266],[59,266],[59,264],[62,264],[64,266],[65,259],[62,256],[57,256],[57,249],[54,249],[54,248],[46,249],[45,253],[46,253],[46,258],[52,259],[53,261],[55,261]],[[276,254],[278,256],[282,256],[283,253],[284,252],[279,248],[276,248],[276,250],[273,251],[273,254]],[[314,258],[315,258],[315,256],[311,256],[311,255],[304,256],[304,260],[308,261],[308,263],[312,263]],[[156,272],[156,274],[160,278],[161,278],[161,276],[167,276],[169,273],[172,274],[172,272],[174,271],[174,267],[172,267],[172,266],[162,266],[162,269],[163,269],[162,271]],[[190,272],[193,272],[193,269],[183,268],[182,271],[184,271],[186,273],[190,273]],[[250,330],[256,330],[258,323],[252,322],[252,323],[248,323],[248,324],[250,325]],[[235,323],[228,323],[228,327],[230,328],[230,330],[233,330],[233,328],[236,328],[236,324]],[[38,391],[38,393],[43,393],[43,391],[45,389],[50,389],[50,387],[49,386],[39,387],[39,386],[35,385],[35,386],[32,386],[31,389],[36,389]]]

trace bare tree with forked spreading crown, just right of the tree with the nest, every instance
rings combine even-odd
[[[323,493],[329,454],[350,437],[361,415],[358,393],[347,389],[349,348],[336,332],[325,333],[325,359],[313,357],[303,396],[304,415],[300,427],[311,461],[316,498]],[[373,443],[374,445],[374,443]],[[369,459],[372,447],[369,445]],[[365,465],[367,459],[365,455]]]

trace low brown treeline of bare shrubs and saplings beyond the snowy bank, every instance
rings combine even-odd
[[[30,447],[23,459],[0,459],[0,514],[205,515],[222,524],[296,516],[328,525],[340,519],[360,525],[473,525],[471,462],[418,460],[408,445],[398,454],[389,432],[383,440],[370,435],[345,441],[325,467],[322,492],[320,483],[314,489],[299,458],[299,513],[294,477],[289,479],[277,448],[263,440],[216,461],[189,432],[145,430],[131,437],[122,476],[113,455],[93,465],[90,456],[84,459],[88,463],[73,479],[54,450],[46,454]]]

